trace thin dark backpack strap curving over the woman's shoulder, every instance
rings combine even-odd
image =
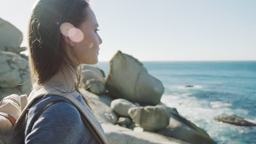
[[[57,96],[57,95],[56,95]],[[32,130],[32,127],[34,125],[34,122],[36,122],[36,120],[40,117],[40,115],[42,115],[42,113],[48,108],[50,107],[51,105],[53,104],[56,104],[56,103],[68,103],[68,104],[71,104],[73,105],[72,103],[70,103],[68,100],[65,100],[65,99],[59,99],[59,100],[55,100],[55,101],[51,101],[50,103],[46,104],[40,111],[39,113],[37,114],[36,118],[34,118],[33,122],[32,122],[32,126],[30,128],[30,132]],[[73,105],[75,107],[75,105]],[[75,107],[76,108],[76,107]],[[77,109],[77,108],[76,108]],[[92,135],[94,135],[95,139],[97,140],[98,143],[102,143],[103,144],[103,141],[101,140],[100,136],[96,133],[96,131],[94,130],[94,128],[92,128],[90,122],[88,122],[88,119],[86,119],[86,117],[84,117],[82,115],[82,112],[80,112],[79,109],[77,109],[80,113],[80,117],[82,118],[84,124],[89,128],[89,130],[91,131]]]

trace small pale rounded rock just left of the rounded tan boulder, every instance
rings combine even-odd
[[[118,115],[124,116],[124,117],[130,117],[128,114],[128,110],[131,107],[136,107],[136,105],[133,105],[131,101],[128,101],[126,99],[115,99],[111,102],[110,107]]]

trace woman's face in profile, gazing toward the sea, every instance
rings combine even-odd
[[[98,22],[94,12],[88,7],[85,13],[87,13],[87,19],[78,27],[80,31],[78,30],[79,32],[75,34],[76,38],[74,37],[73,40],[71,38],[71,45],[74,44],[71,49],[74,50],[81,64],[96,64],[102,39],[97,33]],[[73,58],[76,63],[78,63],[77,58]]]

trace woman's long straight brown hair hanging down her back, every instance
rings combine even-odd
[[[78,65],[68,54],[60,26],[68,22],[79,27],[86,20],[85,9],[88,7],[89,1],[86,0],[39,0],[34,5],[28,22],[28,61],[32,86],[34,83],[38,87],[43,86],[57,71],[66,67],[76,75],[75,89],[79,92],[82,69],[77,69]],[[74,51],[72,55],[75,55]],[[89,105],[84,96],[83,99]]]

